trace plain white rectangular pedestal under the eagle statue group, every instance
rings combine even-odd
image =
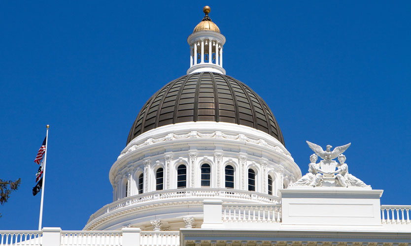
[[[380,225],[383,190],[359,187],[280,189],[283,224]]]

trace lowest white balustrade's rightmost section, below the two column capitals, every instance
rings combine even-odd
[[[140,246],[179,246],[179,231],[141,232]]]

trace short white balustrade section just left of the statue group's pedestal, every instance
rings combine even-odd
[[[281,222],[281,205],[223,204],[223,222]]]

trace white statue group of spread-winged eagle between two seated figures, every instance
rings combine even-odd
[[[309,157],[308,173],[290,186],[370,187],[348,173],[348,165],[345,163],[346,157],[343,152],[348,149],[351,143],[336,147],[333,151],[331,151],[331,145],[327,145],[324,151],[316,144],[308,141],[307,144],[315,153]],[[323,160],[317,163],[318,156]],[[338,157],[339,162],[333,160],[336,157]]]

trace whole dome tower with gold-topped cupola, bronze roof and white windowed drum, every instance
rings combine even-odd
[[[279,190],[301,170],[267,103],[226,75],[226,38],[209,10],[187,38],[187,74],[142,106],[110,168],[113,202],[84,230],[211,228],[207,203],[275,205],[270,213],[279,220]]]

